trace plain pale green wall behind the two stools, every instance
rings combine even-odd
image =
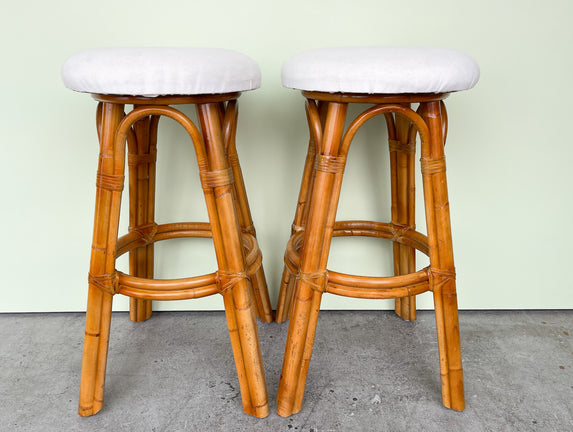
[[[263,87],[241,98],[238,142],[273,301],[307,141],[303,101],[280,85],[283,59],[306,48],[335,45],[467,51],[481,65],[481,81],[447,101],[460,307],[573,308],[567,276],[573,244],[573,140],[567,133],[572,17],[570,0],[36,0],[4,5],[0,311],[85,308],[97,161],[95,102],[66,90],[59,71],[66,57],[83,48],[136,45],[220,46],[259,62]],[[163,126],[158,219],[202,216],[201,201],[186,201],[193,191],[199,193],[196,172],[188,169],[194,164],[190,146],[169,121]],[[370,198],[387,198],[387,156],[382,146],[364,140],[376,138],[381,126],[369,124],[351,152],[341,217],[384,219],[389,213],[384,202]],[[382,161],[379,167],[376,159]],[[158,246],[157,273],[183,277],[213,271],[213,254],[198,243],[198,253],[181,241]],[[387,274],[387,262],[379,269],[376,264],[389,256],[387,244],[342,240],[331,267]],[[121,309],[126,302],[117,298],[115,304]],[[157,308],[221,304],[214,297]],[[429,298],[421,305],[431,306]],[[323,306],[389,304],[326,296]]]

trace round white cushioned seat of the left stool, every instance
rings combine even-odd
[[[254,60],[219,48],[95,48],[70,57],[64,85],[85,93],[130,96],[197,95],[254,90]]]

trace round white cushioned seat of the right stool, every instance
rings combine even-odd
[[[347,47],[304,51],[282,68],[285,87],[330,93],[446,93],[472,88],[479,66],[459,51]]]

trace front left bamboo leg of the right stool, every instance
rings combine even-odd
[[[296,298],[290,317],[283,368],[277,395],[278,414],[287,417],[301,409],[304,385],[316,331],[326,264],[340,195],[342,171],[328,166],[340,162],[338,148],[346,104],[330,103],[305,227]],[[317,163],[317,165],[319,165]],[[343,169],[344,163],[341,168]]]

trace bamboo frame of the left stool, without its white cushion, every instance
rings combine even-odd
[[[237,367],[243,408],[256,417],[268,415],[267,390],[255,314],[273,319],[262,256],[247,202],[235,146],[237,98],[240,93],[195,96],[92,95],[99,101],[97,130],[100,155],[89,272],[86,332],[79,414],[89,416],[103,406],[112,299],[130,299],[130,318],[151,316],[152,300],[181,300],[220,293]],[[124,106],[133,104],[127,115]],[[196,105],[200,129],[177,104]],[[209,223],[157,225],[155,160],[161,116],[188,132],[195,149]],[[129,233],[118,238],[128,148]],[[212,238],[218,271],[184,279],[153,279],[153,243],[181,237]],[[115,268],[129,252],[130,274]]]

